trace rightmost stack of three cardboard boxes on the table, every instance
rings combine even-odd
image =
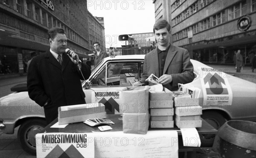
[[[202,126],[202,107],[198,98],[174,98],[175,125],[178,128],[195,128]]]

